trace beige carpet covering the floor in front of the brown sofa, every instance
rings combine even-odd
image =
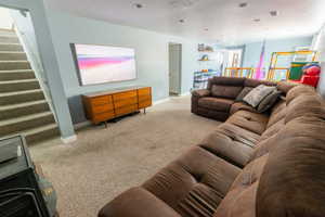
[[[141,184],[220,123],[191,114],[190,97],[173,98],[117,124],[78,131],[78,141],[30,148],[58,194],[61,217],[95,217],[122,191]]]

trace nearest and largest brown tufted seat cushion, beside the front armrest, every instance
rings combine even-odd
[[[161,169],[143,188],[181,216],[212,216],[240,169],[195,146]]]

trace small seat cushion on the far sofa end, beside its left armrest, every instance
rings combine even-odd
[[[198,100],[198,106],[220,112],[229,112],[233,103],[234,100],[223,98],[200,98]]]

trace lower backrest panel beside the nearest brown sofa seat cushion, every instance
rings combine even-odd
[[[213,217],[256,217],[259,180],[269,155],[249,163],[235,179]]]

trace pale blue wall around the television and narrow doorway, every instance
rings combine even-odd
[[[106,22],[77,17],[48,9],[49,24],[64,90],[69,101],[74,123],[86,120],[80,94],[133,85],[153,87],[153,100],[169,97],[169,42],[182,43],[181,92],[193,86],[193,73],[197,69],[197,44],[184,38],[168,36],[144,29],[114,25]],[[107,44],[134,48],[136,52],[138,79],[96,86],[79,85],[70,51],[70,43]]]

